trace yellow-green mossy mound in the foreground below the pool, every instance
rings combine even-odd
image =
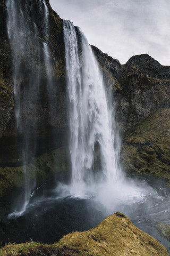
[[[168,252],[155,238],[135,227],[128,217],[118,212],[107,217],[97,227],[66,235],[53,245],[6,245],[0,250],[0,256],[7,255],[168,256]]]

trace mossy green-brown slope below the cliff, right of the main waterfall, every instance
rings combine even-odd
[[[170,180],[170,109],[162,108],[126,131],[122,161],[129,174]],[[151,147],[139,142],[150,142]]]

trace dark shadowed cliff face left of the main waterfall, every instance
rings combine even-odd
[[[44,2],[39,0],[31,3],[29,1],[16,2],[20,11],[17,13],[16,10],[13,10],[13,14],[7,12],[7,1],[2,0],[0,4],[1,166],[15,166],[17,159],[21,159],[24,132],[31,134],[29,135],[30,147],[36,138],[36,154],[44,153],[48,148],[61,146],[63,142],[62,138],[66,130],[63,25],[62,19],[52,10],[49,1],[45,3],[49,12],[48,35],[45,31],[46,6]],[[17,16],[19,18],[15,22]],[[11,32],[15,41],[12,40],[13,38],[9,40],[7,33],[10,21],[15,27],[13,28],[11,25],[10,28],[11,30],[15,29],[14,32]],[[17,43],[18,45],[14,45]],[[45,45],[48,45],[49,55],[45,53]],[[51,69],[50,84],[53,85],[50,88],[50,93],[46,86],[48,80],[46,58],[48,58],[48,65]],[[13,81],[13,77],[16,78],[15,81]],[[34,81],[38,81],[39,84],[36,89],[32,89]],[[16,89],[20,88],[18,95],[14,95],[15,83]],[[16,129],[15,111],[19,105],[22,131]],[[57,115],[56,109],[58,110]],[[29,131],[28,126],[30,127]],[[56,145],[54,145],[54,138],[51,135],[54,133],[53,131],[57,137]],[[44,142],[42,143],[42,141]]]

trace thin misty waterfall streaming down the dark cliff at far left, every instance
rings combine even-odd
[[[36,19],[30,19],[38,5]],[[44,63],[46,73],[46,87],[49,91],[51,79],[50,50],[48,47],[49,31],[49,12],[45,0],[13,1],[6,0],[7,6],[7,33],[10,39],[13,52],[13,84],[15,95],[15,117],[17,130],[22,137],[22,153],[19,158],[22,161],[24,173],[24,195],[16,206],[16,211],[23,212],[27,207],[33,189],[36,186],[35,170],[31,174],[27,171],[27,164],[36,154],[36,132],[38,123],[39,85],[40,85],[40,63]],[[37,18],[36,17],[36,18]],[[38,23],[43,17],[43,26]],[[43,45],[40,41],[44,38]],[[43,40],[43,39],[41,39]],[[36,58],[30,63],[31,56],[36,54]],[[42,72],[42,70],[41,70]],[[25,78],[26,77],[26,78]],[[48,93],[49,94],[49,93]],[[35,117],[30,118],[31,111],[34,110]],[[42,124],[41,124],[42,125]]]

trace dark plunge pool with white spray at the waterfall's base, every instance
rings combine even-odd
[[[109,214],[122,212],[170,251],[170,242],[155,228],[156,221],[170,224],[170,188],[156,178],[138,178],[135,182],[147,193],[138,198],[112,199],[106,205],[96,195],[76,198],[61,196],[56,190],[46,190],[43,195],[43,189],[39,189],[22,214],[13,213],[3,220],[1,241],[53,243],[72,231],[96,226]]]

